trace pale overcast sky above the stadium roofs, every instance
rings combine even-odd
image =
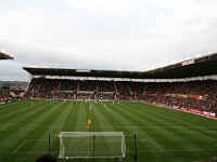
[[[146,71],[217,52],[217,0],[0,0],[0,80],[23,67]]]

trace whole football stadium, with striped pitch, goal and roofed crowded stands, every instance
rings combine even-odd
[[[23,70],[26,89],[0,86],[0,162],[216,161],[217,53],[144,72]]]

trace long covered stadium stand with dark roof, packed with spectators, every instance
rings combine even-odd
[[[33,76],[26,98],[143,102],[216,116],[217,54],[137,71],[24,67]]]

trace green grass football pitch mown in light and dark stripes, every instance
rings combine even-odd
[[[142,103],[21,100],[0,105],[0,162],[35,162],[50,151],[59,156],[60,132],[124,132],[126,157],[133,162],[208,162],[217,156],[217,121]],[[65,162],[60,159],[60,162]],[[73,160],[72,160],[73,161]],[[74,160],[79,161],[79,160]],[[82,159],[115,162],[115,159]]]

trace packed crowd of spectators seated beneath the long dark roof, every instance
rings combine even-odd
[[[133,82],[34,78],[28,98],[143,100],[199,110],[217,108],[217,81]]]

